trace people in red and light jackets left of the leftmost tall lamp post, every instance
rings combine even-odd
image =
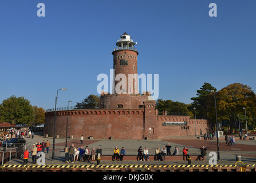
[[[46,148],[46,152],[49,153],[49,148],[50,148],[50,142],[48,140],[45,140],[41,143],[40,141],[37,141],[37,144],[33,144],[32,148],[31,148],[31,156],[32,156],[32,163],[36,164],[37,162],[37,157],[40,157],[41,154],[40,152],[45,152],[45,148]],[[24,152],[24,156],[23,156],[23,164],[26,165],[27,164],[27,160],[29,159],[29,151],[28,149],[25,150]]]

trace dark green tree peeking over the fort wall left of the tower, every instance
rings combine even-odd
[[[100,107],[100,97],[90,94],[82,102],[77,102],[75,109],[98,109]]]

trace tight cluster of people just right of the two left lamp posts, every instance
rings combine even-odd
[[[102,156],[102,149],[99,147],[97,149],[92,148],[89,150],[89,146],[86,145],[85,148],[82,146],[80,148],[74,148],[74,144],[69,147],[65,162],[74,163],[73,161],[96,161]]]

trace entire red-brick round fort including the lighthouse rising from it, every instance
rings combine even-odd
[[[68,137],[96,139],[158,139],[169,136],[195,136],[210,132],[210,122],[190,116],[159,116],[156,101],[149,92],[139,94],[137,55],[130,35],[124,33],[113,50],[115,78],[125,76],[126,84],[113,82],[112,94],[102,92],[100,109],[72,109],[68,111]],[[66,136],[67,111],[56,113],[56,135]],[[54,112],[45,113],[45,134],[53,136]]]

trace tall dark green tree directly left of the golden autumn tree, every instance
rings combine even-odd
[[[200,116],[204,119],[209,119],[209,113],[214,107],[214,100],[212,99],[212,92],[216,92],[216,88],[211,86],[210,83],[204,82],[203,86],[199,90],[196,90],[196,96],[192,97],[193,101],[191,106],[188,108],[194,114],[194,108],[196,108],[196,116]]]

